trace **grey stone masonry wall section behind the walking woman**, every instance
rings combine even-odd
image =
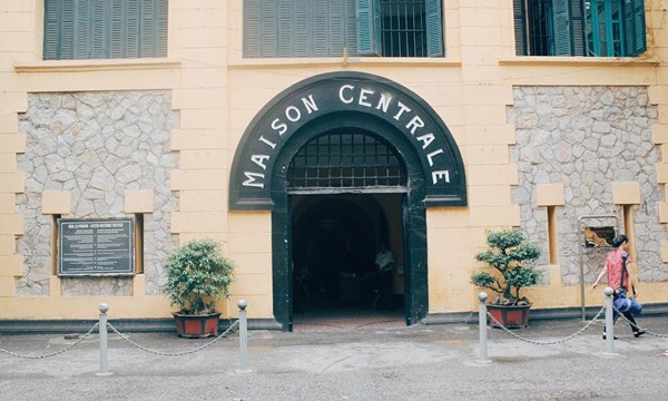
[[[558,206],[559,262],[562,283],[579,284],[580,235],[578,217],[617,214],[613,182],[640,184],[641,204],[632,207],[635,246],[640,281],[666,281],[661,262],[665,227],[659,223],[655,166],[660,151],[651,143],[657,109],[649,105],[645,87],[517,87],[508,121],[517,127],[511,159],[518,164],[519,186],[513,202],[520,205],[522,228],[547,254],[547,212],[536,206],[536,185],[562,183],[566,205]],[[613,221],[588,221],[591,226]],[[622,222],[619,222],[620,229]],[[592,283],[609,250],[584,252],[584,282]],[[544,278],[547,280],[547,278]]]

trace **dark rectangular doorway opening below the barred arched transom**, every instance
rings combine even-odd
[[[293,323],[301,327],[403,325],[404,194],[293,195]],[[379,245],[394,263],[381,273]]]

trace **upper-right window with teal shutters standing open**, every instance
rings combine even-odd
[[[513,0],[518,56],[632,57],[647,49],[645,0]]]

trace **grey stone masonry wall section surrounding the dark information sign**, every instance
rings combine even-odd
[[[125,192],[151,189],[154,213],[144,218],[146,293],[158,294],[161,264],[177,246],[169,214],[178,198],[169,188],[177,155],[169,150],[169,131],[178,125],[167,91],[109,91],[29,95],[20,130],[27,135],[19,169],[26,192],[17,196],[24,235],[17,242],[24,275],[17,294],[49,294],[52,275],[52,217],[41,212],[45,190],[71,194],[67,218],[127,217]],[[132,295],[131,277],[68,277],[63,296]]]

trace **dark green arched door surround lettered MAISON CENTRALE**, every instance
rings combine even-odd
[[[302,157],[301,151],[318,138],[331,140],[335,136],[355,135],[371,138],[370,143],[389,149],[401,166],[404,180],[377,182],[374,180],[379,177],[376,172],[364,173],[363,179],[348,177],[351,180],[335,184],[320,175],[324,167],[348,168],[355,163],[342,165],[340,160],[338,165],[325,165],[318,159],[321,154],[316,146],[315,158],[320,162],[311,167],[315,167],[313,173],[318,175],[312,177],[305,173],[302,178],[306,184],[294,185],[298,178],[294,176],[297,170],[294,162]],[[360,140],[364,148],[366,139]],[[332,154],[332,144],[327,146],[322,155]],[[377,155],[377,150],[366,149],[361,154]],[[308,155],[304,157],[307,159]],[[351,172],[340,176],[346,174]],[[356,173],[353,175],[357,177]],[[308,178],[313,178],[315,185],[308,185]],[[385,239],[381,238],[381,222],[374,225],[373,213],[360,213],[373,203],[381,205],[379,211],[383,212],[387,204],[393,205],[392,213],[385,213],[384,224],[385,229],[400,232],[390,236],[390,241],[403,263],[405,321],[416,323],[429,307],[425,208],[466,204],[461,155],[434,110],[409,89],[385,78],[333,72],[286,89],[250,123],[235,154],[230,209],[272,211],[274,316],[284,329],[292,330],[294,273],[301,268],[295,262],[303,263],[299,258],[305,257],[304,248],[308,247],[298,239],[303,234],[297,233],[295,238],[295,226],[302,229],[304,224],[322,235],[323,241],[330,238],[332,244],[321,248],[326,252],[332,252],[334,246],[345,248],[346,233],[354,229],[369,229],[372,239],[367,242],[377,243]],[[311,204],[308,208],[299,208],[306,204]],[[330,215],[321,212],[327,209],[333,212]],[[365,219],[372,223],[366,224]],[[387,225],[387,221],[392,221],[392,225]],[[332,236],[343,239],[332,239]],[[375,246],[373,244],[374,253]],[[367,263],[369,254],[369,248],[356,251],[355,263]],[[348,267],[333,267],[327,273],[338,274],[341,278],[348,273],[345,268]],[[341,287],[338,294],[341,296]]]

